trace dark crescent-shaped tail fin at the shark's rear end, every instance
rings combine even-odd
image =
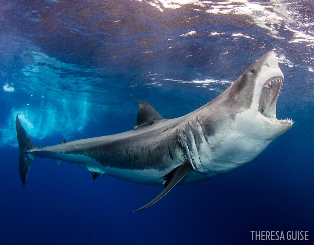
[[[27,179],[28,171],[30,170],[30,166],[36,159],[35,156],[32,156],[28,152],[31,149],[34,149],[37,147],[34,145],[30,137],[26,133],[21,122],[19,121],[18,116],[16,116],[15,125],[16,125],[16,135],[18,137],[18,142],[19,142],[19,173],[20,173],[20,178],[24,187],[26,179]]]

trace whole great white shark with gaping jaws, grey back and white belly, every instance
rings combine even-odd
[[[16,117],[19,173],[23,186],[37,157],[86,167],[93,179],[164,185],[165,189],[136,211],[160,200],[176,184],[186,185],[228,174],[255,159],[293,125],[276,118],[284,81],[273,51],[263,55],[211,102],[185,116],[165,119],[139,102],[133,130],[36,147]]]

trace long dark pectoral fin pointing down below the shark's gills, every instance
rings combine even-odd
[[[166,188],[162,192],[160,192],[160,194],[156,196],[152,201],[150,201],[143,207],[139,208],[138,210],[135,210],[134,212],[141,211],[153,205],[155,202],[159,201],[164,195],[166,195],[172,189],[172,187],[174,187],[190,171],[192,171],[192,169],[187,162],[177,167],[173,172],[173,175],[169,176],[170,181],[168,182]]]

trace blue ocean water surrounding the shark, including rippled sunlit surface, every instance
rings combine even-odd
[[[312,0],[0,1],[0,244],[254,244],[314,220]],[[292,129],[235,172],[176,186],[36,159],[19,179],[17,114],[37,146],[120,133],[138,101],[165,118],[224,91],[274,50]],[[296,243],[297,241],[276,241]]]

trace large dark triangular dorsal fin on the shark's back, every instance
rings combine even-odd
[[[141,127],[149,126],[156,121],[165,119],[152,107],[149,103],[145,101],[139,102],[138,107],[138,118],[136,125],[133,129],[138,129]]]

